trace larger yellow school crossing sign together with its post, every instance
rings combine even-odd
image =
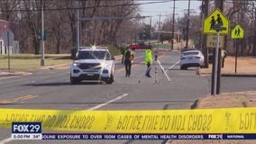
[[[229,33],[229,21],[225,15],[216,8],[215,11],[209,14],[204,20],[203,31],[205,34],[216,34],[215,63],[212,73],[212,94],[216,95],[217,88],[220,88],[220,85],[217,87],[217,80],[219,80],[220,84],[220,74],[219,76],[217,75],[217,72],[220,71],[220,67],[218,67],[220,34]]]

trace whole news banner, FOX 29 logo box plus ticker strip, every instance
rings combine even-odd
[[[13,122],[12,139],[256,139],[256,133],[41,133],[41,122]]]

